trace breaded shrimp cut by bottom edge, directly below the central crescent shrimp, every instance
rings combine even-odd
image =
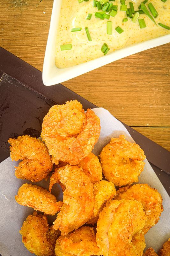
[[[56,256],[100,255],[93,228],[81,227],[67,236],[60,236],[55,245]]]

